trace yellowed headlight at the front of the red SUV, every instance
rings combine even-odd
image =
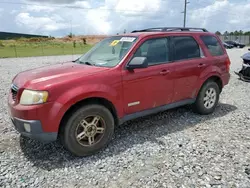
[[[32,91],[25,89],[22,93],[20,104],[22,105],[42,104],[47,102],[47,99],[48,99],[47,91]]]

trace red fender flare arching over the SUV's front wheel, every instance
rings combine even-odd
[[[112,88],[105,84],[91,83],[84,85],[84,87],[78,86],[76,88],[67,90],[57,98],[57,100],[55,101],[55,105],[57,104],[57,106],[60,106],[59,109],[57,108],[57,116],[60,121],[71,106],[84,99],[92,97],[104,98],[110,101],[114,105],[118,117],[122,116],[122,96],[119,95],[119,92],[115,88]]]

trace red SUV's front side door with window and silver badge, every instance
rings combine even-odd
[[[147,57],[149,66],[133,71],[123,70],[123,101],[126,114],[168,104],[173,96],[173,66],[169,63],[168,38],[153,38],[141,42],[135,56]]]

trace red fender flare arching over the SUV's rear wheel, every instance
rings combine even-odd
[[[200,75],[200,79],[197,81],[197,88],[196,88],[196,93],[195,97],[198,95],[202,85],[212,76],[217,76],[221,80],[221,69],[219,69],[217,66],[209,66],[207,67]]]

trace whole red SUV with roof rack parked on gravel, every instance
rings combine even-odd
[[[220,39],[199,28],[150,28],[111,36],[73,62],[15,76],[8,104],[16,129],[43,142],[60,138],[93,154],[125,121],[182,105],[214,111],[228,84]]]

